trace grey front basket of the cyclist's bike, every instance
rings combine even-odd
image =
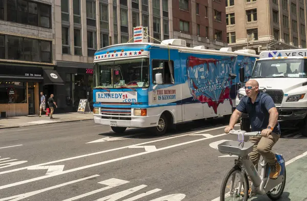
[[[246,156],[253,150],[253,143],[238,142],[238,141],[225,141],[217,145],[218,151],[222,154],[229,154],[236,156]]]

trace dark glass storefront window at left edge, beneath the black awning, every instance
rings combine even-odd
[[[27,103],[27,83],[0,82],[0,104]]]

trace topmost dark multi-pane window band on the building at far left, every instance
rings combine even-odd
[[[51,6],[26,0],[10,0],[4,5],[0,1],[0,19],[4,19],[4,10],[7,8],[7,20],[29,24],[32,26],[50,28]],[[38,14],[38,11],[40,11]],[[49,21],[46,22],[45,20]]]

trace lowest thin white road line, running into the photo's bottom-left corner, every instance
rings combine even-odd
[[[91,179],[91,178],[95,178],[95,177],[98,177],[98,176],[99,176],[99,174],[95,174],[95,175],[92,175],[90,177],[85,177],[85,178],[74,180],[74,181],[71,181],[71,182],[59,184],[59,185],[56,185],[56,186],[51,186],[49,188],[40,189],[40,190],[28,192],[28,193],[23,193],[23,194],[14,195],[14,196],[11,196],[11,197],[2,198],[2,199],[0,199],[0,201],[5,201],[5,200],[17,201],[17,200],[20,200],[20,199],[24,199],[24,198],[42,193],[42,192],[46,192],[48,190],[56,189],[56,188],[63,187],[63,186],[69,185],[69,184],[74,184],[74,183],[77,183],[77,182],[80,182],[80,181],[83,181],[83,180],[88,180],[88,179]]]

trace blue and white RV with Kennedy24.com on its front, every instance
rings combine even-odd
[[[95,123],[162,135],[178,123],[229,116],[239,68],[249,79],[256,58],[252,50],[192,48],[180,39],[103,47],[94,56]]]

